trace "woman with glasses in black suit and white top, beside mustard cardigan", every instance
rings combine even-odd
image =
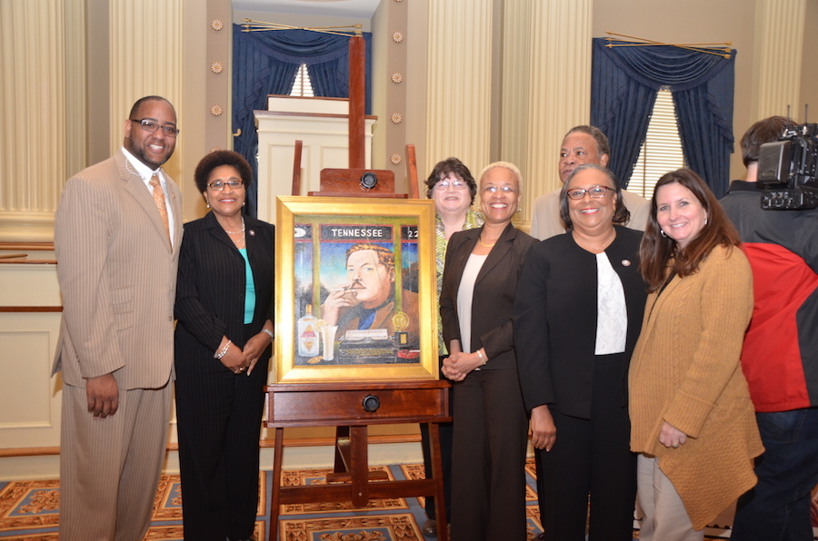
[[[642,324],[641,231],[613,173],[577,167],[560,193],[567,232],[528,253],[514,303],[514,346],[531,412],[544,538],[631,541],[636,457],[628,364]],[[591,510],[588,522],[588,495]]]

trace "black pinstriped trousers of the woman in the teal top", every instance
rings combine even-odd
[[[176,368],[185,539],[248,539],[258,507],[258,438],[269,357],[253,373]]]

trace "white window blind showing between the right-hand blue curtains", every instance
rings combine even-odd
[[[639,161],[633,167],[631,180],[628,182],[628,192],[650,199],[653,197],[656,181],[664,173],[681,167],[684,167],[684,156],[673,95],[670,90],[663,88],[656,96],[651,122],[639,152]]]

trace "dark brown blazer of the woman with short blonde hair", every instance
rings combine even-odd
[[[457,290],[469,255],[474,250],[483,228],[457,231],[449,239],[440,293],[440,315],[444,340],[460,339],[457,317]],[[514,367],[514,332],[512,310],[517,280],[529,248],[538,241],[517,231],[509,223],[489,252],[474,283],[472,302],[471,350],[484,348],[488,363],[482,369]]]

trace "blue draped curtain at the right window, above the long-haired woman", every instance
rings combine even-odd
[[[733,152],[735,50],[730,59],[671,45],[605,47],[594,38],[591,123],[611,143],[610,167],[626,182],[639,159],[656,93],[669,86],[684,160],[722,197]]]

